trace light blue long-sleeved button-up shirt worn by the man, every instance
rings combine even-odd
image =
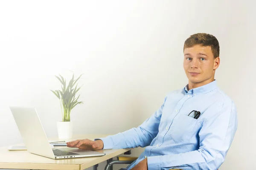
[[[236,106],[216,80],[189,91],[187,87],[169,93],[139,127],[100,138],[103,149],[145,147],[128,170],[145,158],[148,170],[217,170],[236,133]],[[193,110],[201,112],[198,119],[189,115]]]

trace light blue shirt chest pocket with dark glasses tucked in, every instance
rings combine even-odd
[[[179,114],[173,119],[170,127],[170,135],[175,143],[188,143],[195,132],[195,125],[198,119]]]

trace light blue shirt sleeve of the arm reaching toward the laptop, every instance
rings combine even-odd
[[[166,97],[167,98],[167,97]],[[119,149],[119,148],[134,148],[148,146],[151,141],[157,136],[160,119],[162,116],[163,105],[150,118],[146,119],[142,125],[132,128],[116,135],[99,138],[103,141],[103,149]],[[99,140],[95,139],[95,140]]]

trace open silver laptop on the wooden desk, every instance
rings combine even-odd
[[[35,108],[10,107],[20,135],[30,153],[45,156],[51,159],[81,158],[91,156],[104,156],[90,150],[73,148],[52,148],[49,144],[44,128]]]

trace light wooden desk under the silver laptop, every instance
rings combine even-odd
[[[95,139],[107,135],[75,135],[73,139]],[[49,140],[58,140],[50,138]],[[22,145],[22,144],[19,144]],[[57,148],[57,146],[55,146]],[[61,148],[61,147],[58,147]],[[28,170],[84,170],[93,165],[111,159],[131,149],[98,150],[106,153],[105,156],[73,158],[73,159],[50,159],[29,153],[27,150],[9,151],[8,147],[0,147],[0,168],[3,169],[28,169]]]

